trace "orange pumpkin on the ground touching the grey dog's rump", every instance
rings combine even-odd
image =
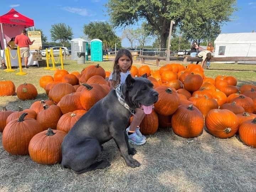
[[[65,132],[51,128],[34,135],[28,146],[31,159],[43,165],[61,162],[61,145],[65,135]]]

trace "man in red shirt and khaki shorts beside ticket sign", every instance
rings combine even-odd
[[[35,40],[30,41],[30,39],[26,36],[27,31],[26,30],[22,30],[20,35],[17,35],[15,37],[15,44],[17,44],[20,47],[20,55],[21,55],[21,62],[22,62],[22,58],[24,57],[24,62],[25,62],[25,68],[27,69],[28,66],[28,57],[30,55],[30,50],[29,50],[29,46],[32,45],[34,43]]]

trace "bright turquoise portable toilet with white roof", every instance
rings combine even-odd
[[[102,41],[100,39],[91,40],[91,61],[103,61]]]

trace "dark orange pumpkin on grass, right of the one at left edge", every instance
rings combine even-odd
[[[30,100],[37,97],[37,89],[30,83],[24,83],[17,87],[17,96],[21,100]]]

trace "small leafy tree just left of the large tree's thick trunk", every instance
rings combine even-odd
[[[145,47],[145,44],[150,40],[150,28],[143,22],[141,27],[135,30],[135,38],[142,45],[142,48]]]

